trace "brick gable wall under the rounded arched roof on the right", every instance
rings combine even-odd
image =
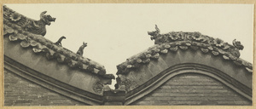
[[[212,77],[185,73],[131,105],[252,105],[252,101]]]

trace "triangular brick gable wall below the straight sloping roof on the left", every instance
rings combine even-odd
[[[86,104],[67,98],[32,83],[13,72],[4,71],[4,106],[84,106]]]

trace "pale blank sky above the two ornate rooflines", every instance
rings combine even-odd
[[[241,41],[241,58],[253,62],[253,4],[6,4],[20,14],[39,20],[47,14],[56,20],[44,37],[77,52],[88,43],[84,57],[105,66],[107,73],[134,54],[154,45],[148,32],[201,32],[224,42]],[[113,82],[114,84],[114,82]]]

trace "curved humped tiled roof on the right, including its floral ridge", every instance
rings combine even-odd
[[[253,72],[253,64],[239,58],[239,50],[243,49],[243,46],[236,39],[233,41],[233,45],[230,45],[229,43],[224,43],[219,38],[208,37],[200,32],[169,32],[160,34],[157,26],[156,31],[148,32],[148,35],[151,36],[151,40],[154,40],[154,46],[119,64],[117,66],[117,74],[128,73],[143,64],[148,64],[150,60],[157,60],[160,54],[176,52],[177,49],[200,49],[203,53],[222,55],[224,60],[232,60],[236,66],[244,66],[248,72]]]

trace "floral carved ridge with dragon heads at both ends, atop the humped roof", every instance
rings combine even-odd
[[[183,48],[183,45],[181,44],[187,42],[193,45],[192,48],[195,46],[202,46],[203,51],[206,51],[208,47],[211,49],[220,49],[220,51],[228,52],[236,58],[240,57],[239,50],[244,48],[239,41],[236,41],[236,39],[233,40],[234,46],[232,46],[229,43],[225,43],[220,38],[208,37],[206,35],[202,35],[201,32],[169,32],[166,34],[160,34],[160,29],[157,25],[155,25],[155,30],[156,31],[154,32],[148,32],[148,35],[151,36],[150,39],[154,40],[154,44],[160,45],[163,43],[176,43],[180,45],[182,49],[186,49]]]

